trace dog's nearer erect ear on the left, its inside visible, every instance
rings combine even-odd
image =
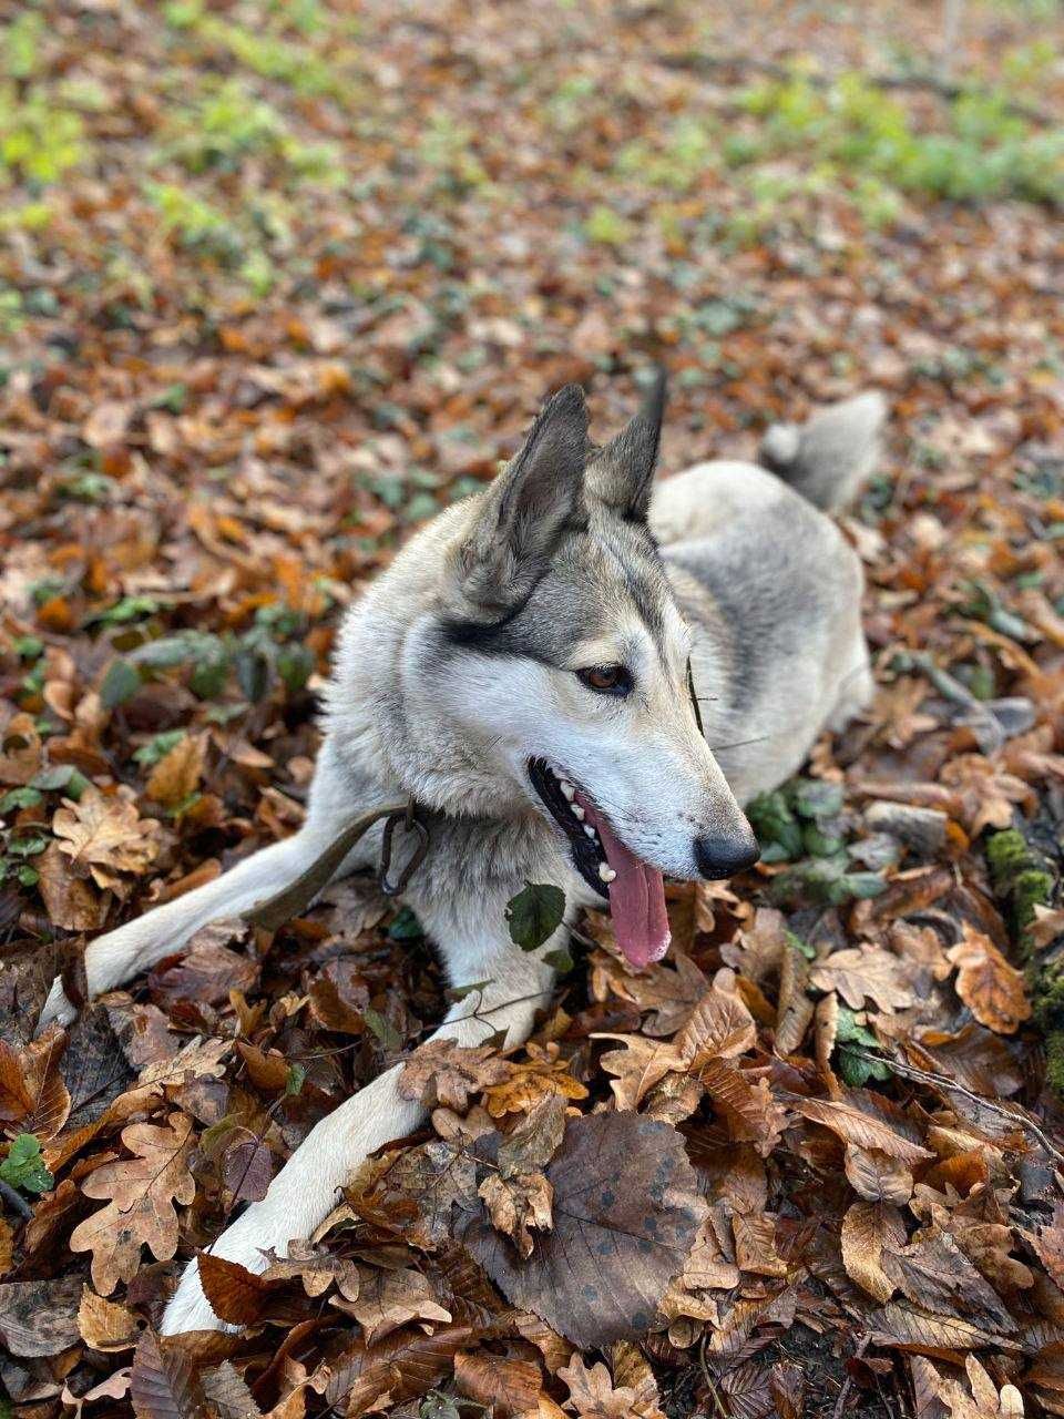
[[[584,518],[587,448],[583,390],[566,385],[543,404],[523,448],[488,490],[458,551],[467,600],[498,612],[528,597],[566,525]]]

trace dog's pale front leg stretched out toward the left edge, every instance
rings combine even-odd
[[[112,990],[170,952],[180,951],[200,927],[221,917],[238,917],[294,883],[336,840],[350,813],[350,792],[326,742],[314,778],[306,822],[299,832],[281,843],[271,843],[184,897],[96,937],[85,949],[89,996]],[[342,871],[350,871],[352,866],[345,863]],[[57,979],[41,1012],[41,1026],[50,1020],[68,1025],[75,1013]]]

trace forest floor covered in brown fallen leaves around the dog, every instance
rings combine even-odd
[[[1060,6],[972,0],[949,65],[899,0],[0,21],[0,1415],[1063,1413]],[[878,698],[668,961],[590,917],[525,1047],[414,1057],[431,1127],[312,1247],[204,1263],[245,1330],[160,1347],[440,972],[339,888],[34,1039],[47,986],[298,826],[345,606],[653,362],[665,471],[884,392]]]

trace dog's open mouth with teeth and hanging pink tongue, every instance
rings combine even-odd
[[[665,884],[657,867],[621,843],[589,795],[546,759],[529,759],[528,776],[550,816],[569,839],[576,870],[610,902],[617,945],[634,966],[660,961],[668,951]]]

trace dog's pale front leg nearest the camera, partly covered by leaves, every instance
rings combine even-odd
[[[563,935],[565,928],[545,949],[556,946]],[[471,966],[475,962],[477,971],[465,982],[454,983],[488,983],[453,1006],[430,1039],[453,1039],[464,1046],[481,1044],[497,1032],[505,1032],[508,1044],[528,1039],[536,1009],[549,999],[553,971],[512,946],[501,951],[495,945],[492,955],[477,949],[462,955]],[[424,1121],[421,1104],[399,1093],[401,1071],[403,1066],[394,1064],[323,1118],[270,1183],[265,1198],[221,1233],[211,1253],[238,1261],[250,1271],[261,1271],[267,1266],[262,1256],[267,1247],[284,1256],[292,1239],[309,1236],[335,1206],[339,1189],[355,1168],[373,1149],[403,1138]],[[162,1331],[174,1335],[220,1327],[193,1261],[166,1308]]]

